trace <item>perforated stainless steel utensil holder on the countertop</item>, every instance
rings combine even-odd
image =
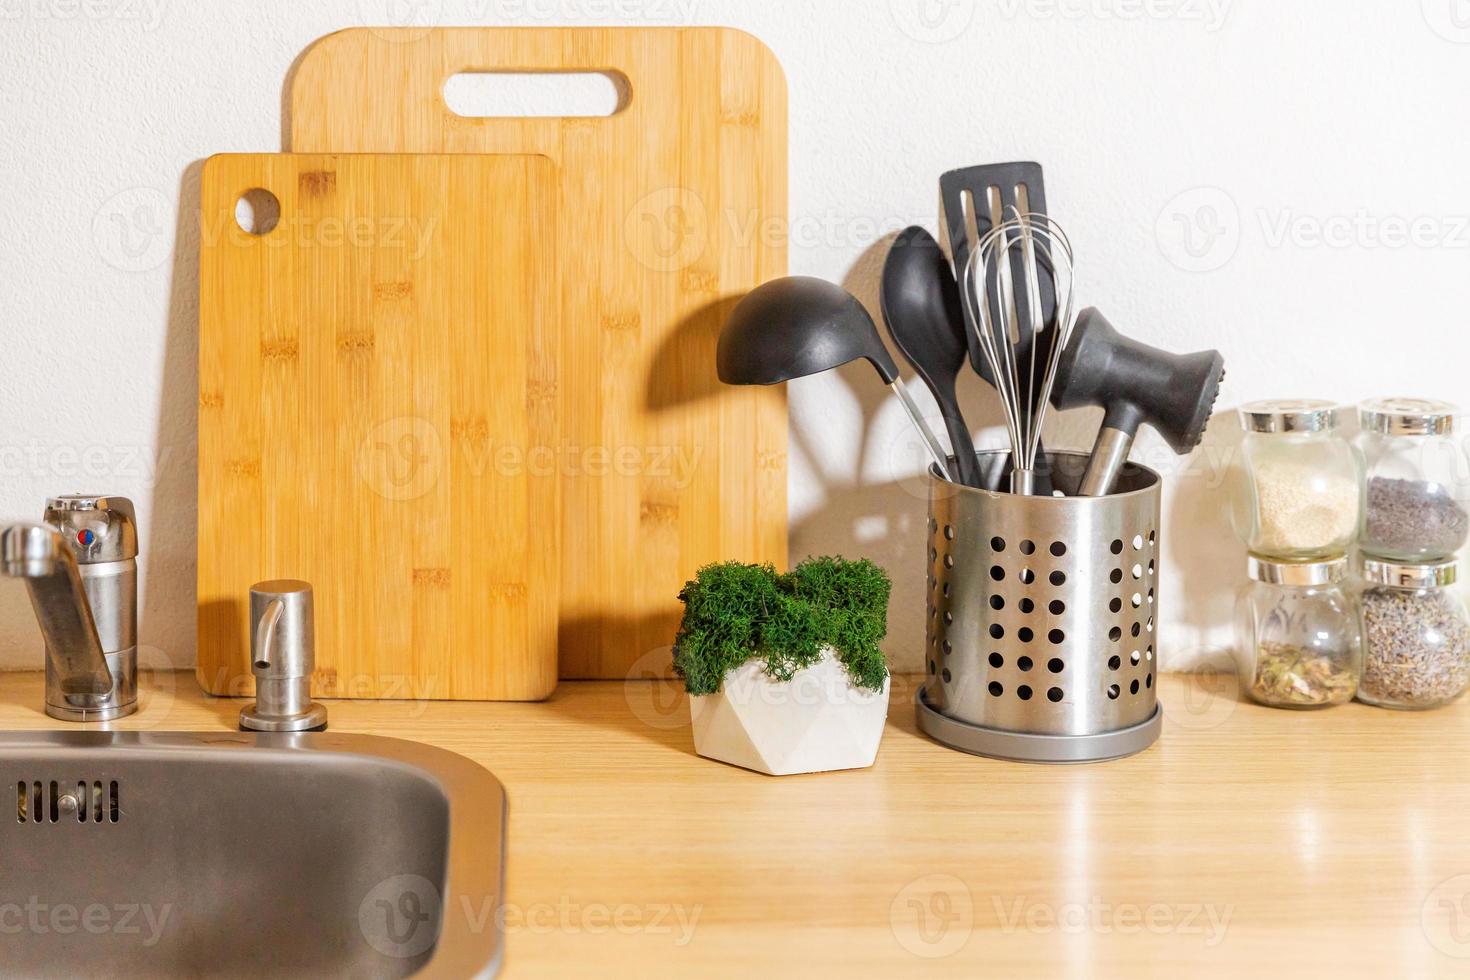
[[[1008,486],[1008,453],[979,460],[983,486]],[[1070,494],[1088,457],[1047,461]],[[1022,497],[931,470],[925,733],[1028,763],[1119,758],[1158,738],[1160,488],[1132,463],[1108,497]]]

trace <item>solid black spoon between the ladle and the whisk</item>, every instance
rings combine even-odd
[[[906,228],[888,253],[882,306],[888,335],[939,404],[960,482],[980,486],[975,441],[956,394],[960,369],[970,356],[960,287],[939,242],[917,225]]]

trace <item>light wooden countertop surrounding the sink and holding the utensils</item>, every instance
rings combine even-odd
[[[929,742],[894,686],[878,765],[782,779],[695,757],[657,682],[329,707],[506,783],[507,977],[1470,974],[1470,701],[1299,714],[1166,676],[1152,749],[1036,767]],[[188,673],[144,696],[118,727],[240,710]],[[62,727],[40,705],[0,674],[0,729]]]

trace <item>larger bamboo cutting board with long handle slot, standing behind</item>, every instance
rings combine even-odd
[[[607,72],[609,118],[453,113],[457,72]],[[351,29],[291,84],[297,151],[542,153],[562,175],[562,676],[667,669],[707,561],[786,561],[779,389],[722,388],[729,306],[786,270],[786,88],[717,28]]]

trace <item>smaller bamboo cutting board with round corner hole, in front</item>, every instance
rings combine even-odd
[[[243,192],[279,223],[235,223]],[[541,156],[218,156],[200,201],[198,679],[306,579],[319,696],[556,686],[559,181]]]

